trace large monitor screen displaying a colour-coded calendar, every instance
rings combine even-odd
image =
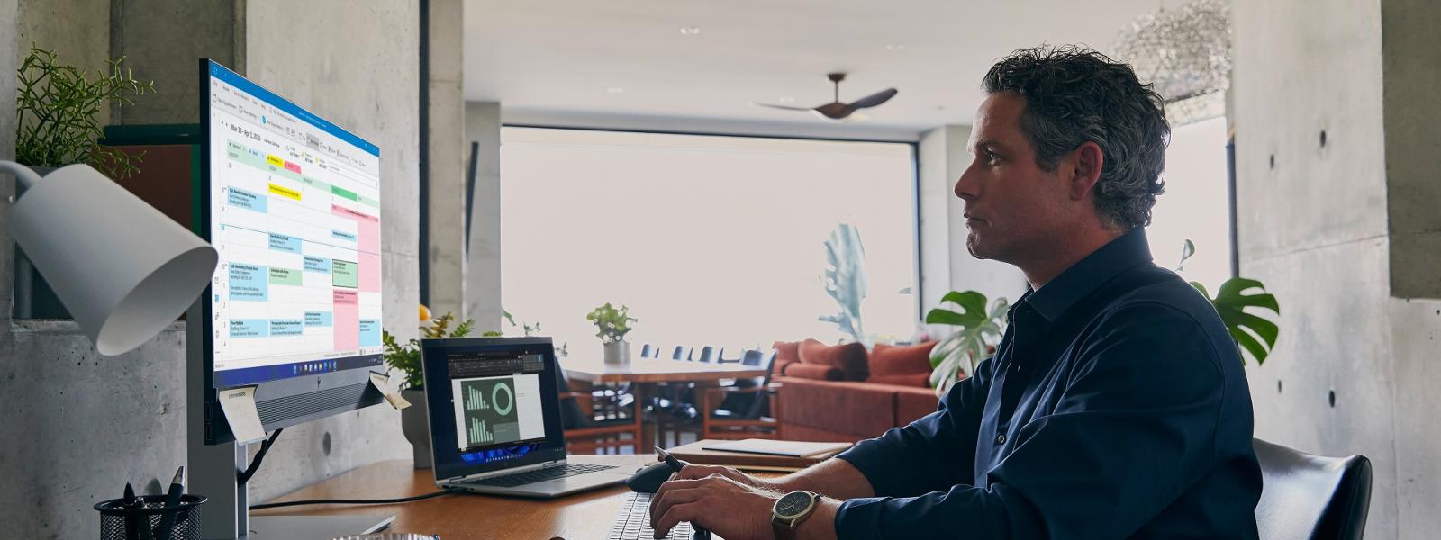
[[[213,386],[379,366],[379,147],[208,63]]]

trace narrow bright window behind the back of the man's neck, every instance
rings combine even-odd
[[[1176,268],[1186,239],[1196,255],[1185,276],[1215,295],[1231,278],[1231,202],[1226,183],[1226,120],[1212,118],[1174,128],[1166,148],[1166,193],[1156,199],[1151,242],[1156,265]]]

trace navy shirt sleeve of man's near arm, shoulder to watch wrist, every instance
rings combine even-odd
[[[1055,412],[1020,429],[989,485],[844,501],[837,537],[1123,539],[1148,523],[1210,469],[1219,356],[1173,307],[1133,304],[1108,318],[1079,346]],[[911,452],[924,455],[869,456],[867,467]]]

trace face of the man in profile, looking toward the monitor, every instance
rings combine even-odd
[[[1075,212],[1062,179],[1068,167],[1048,173],[1036,166],[1020,130],[1025,108],[1025,98],[991,94],[976,111],[973,160],[955,181],[955,196],[965,200],[965,248],[978,259],[1020,265],[1045,258]]]

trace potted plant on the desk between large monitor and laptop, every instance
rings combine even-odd
[[[427,321],[429,310],[421,307],[421,321]],[[465,337],[476,321],[467,318],[464,323],[450,328],[454,314],[444,314],[421,325],[424,337]],[[385,364],[401,372],[405,382],[401,383],[401,396],[411,402],[409,408],[401,410],[401,432],[411,442],[411,455],[415,458],[415,468],[431,468],[431,429],[427,419],[425,377],[421,372],[421,341],[409,340],[399,343],[389,331],[380,333],[385,343]]]

